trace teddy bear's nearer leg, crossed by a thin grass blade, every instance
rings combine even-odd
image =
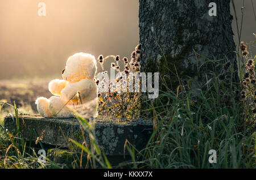
[[[52,96],[49,98],[49,112],[53,115],[55,118],[73,118],[74,115],[69,110],[68,106],[70,106],[70,102],[66,104],[67,102],[64,102],[63,99],[57,96]]]

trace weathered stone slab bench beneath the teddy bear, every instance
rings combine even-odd
[[[14,118],[14,119],[13,119]],[[15,115],[5,117],[5,128],[15,131]],[[123,156],[126,139],[138,150],[143,149],[148,142],[153,130],[153,122],[144,119],[118,119],[95,118],[95,135],[100,147],[107,156]],[[50,119],[40,115],[19,115],[20,132],[24,139],[30,140],[31,131],[36,130],[43,144],[55,145],[58,148],[67,149],[68,139],[75,139],[82,143],[80,123],[75,118]],[[86,135],[86,134],[85,134]],[[35,134],[32,140],[38,138]],[[127,154],[127,151],[126,151]]]

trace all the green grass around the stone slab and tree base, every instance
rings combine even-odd
[[[203,88],[160,92],[150,107],[158,126],[147,147],[137,152],[126,143],[132,160],[117,168],[256,168],[255,127],[247,125],[255,119],[243,120],[243,101],[235,97],[216,76]],[[19,108],[19,112],[10,105],[4,110],[1,118],[7,113],[16,114],[17,119],[20,112],[31,113],[29,106]],[[90,135],[89,142],[79,144],[69,139],[69,151],[59,153],[61,157],[67,154],[68,161],[61,164],[49,156],[46,164],[37,162],[38,155],[31,142],[22,138],[18,123],[16,134],[10,134],[1,125],[0,168],[112,168],[98,148],[93,126],[79,114],[76,116]],[[210,149],[217,152],[216,164],[208,161]]]

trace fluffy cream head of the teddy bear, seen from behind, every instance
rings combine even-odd
[[[76,53],[68,58],[62,77],[68,82],[79,82],[81,79],[94,79],[97,62],[93,55]]]

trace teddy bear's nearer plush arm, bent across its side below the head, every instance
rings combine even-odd
[[[62,91],[61,97],[64,97],[66,100],[77,100],[77,92],[80,93],[81,98],[88,96],[93,85],[93,80],[82,79],[76,83],[69,83]]]

